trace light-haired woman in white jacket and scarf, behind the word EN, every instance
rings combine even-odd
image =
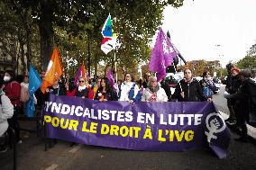
[[[154,76],[150,77],[148,88],[142,94],[142,102],[168,102],[164,89],[160,87]]]

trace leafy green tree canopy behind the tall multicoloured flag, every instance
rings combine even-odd
[[[48,46],[59,47],[63,62],[66,58],[76,58],[78,62],[88,61],[90,55],[91,66],[96,66],[100,60],[105,61],[107,65],[113,65],[114,51],[105,55],[100,49],[103,39],[101,29],[110,13],[114,19],[114,32],[121,43],[121,47],[116,49],[118,66],[134,71],[138,63],[150,58],[149,44],[161,24],[164,7],[168,4],[179,7],[183,0],[5,0],[1,2],[1,6],[4,6],[3,11],[9,14],[1,13],[0,22],[5,22],[1,25],[1,35],[6,35],[8,31],[14,35],[23,33],[21,37],[25,39],[26,28],[31,28],[34,65],[42,64],[40,56],[46,58],[45,60],[50,58],[50,55],[45,55],[47,52],[43,53],[40,49],[41,41],[46,39],[54,40],[54,44]],[[47,8],[43,8],[43,5],[47,5]],[[42,13],[47,13],[46,17],[50,16],[50,20],[45,20]],[[48,29],[46,25],[49,25]],[[54,31],[53,37],[50,37],[51,31]],[[69,55],[66,55],[66,51],[69,51]]]

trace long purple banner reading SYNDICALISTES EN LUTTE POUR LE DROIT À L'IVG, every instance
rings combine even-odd
[[[100,102],[50,94],[47,136],[111,148],[186,151],[209,147],[226,157],[230,131],[212,102]]]

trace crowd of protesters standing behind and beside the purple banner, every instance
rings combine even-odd
[[[256,110],[255,83],[250,79],[249,70],[241,71],[231,65],[227,66],[227,70],[225,90],[228,95],[225,95],[225,98],[230,117],[226,122],[241,127],[242,137],[239,140],[247,141],[246,122],[250,121],[251,112],[255,114]],[[29,100],[29,77],[25,75],[15,78],[14,72],[10,70],[3,73],[0,77],[0,136],[5,134],[9,125],[15,130],[17,142],[22,143],[17,116],[25,114],[26,103]],[[45,72],[41,72],[40,76],[43,78]],[[144,80],[138,81],[135,81],[132,73],[126,73],[123,81],[118,80],[115,85],[111,85],[107,77],[99,76],[96,79],[79,76],[77,85],[74,81],[74,78],[66,74],[48,87],[45,94],[39,88],[33,96],[38,111],[41,110],[44,101],[48,100],[49,94],[77,96],[103,102],[200,102],[212,101],[216,88],[209,71],[204,72],[203,79],[198,82],[188,68],[184,70],[184,79],[178,82],[174,94],[170,93],[169,85],[164,80],[157,82],[156,77],[151,76],[150,72],[145,74]]]

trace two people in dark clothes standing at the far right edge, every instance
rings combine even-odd
[[[256,84],[251,80],[250,70],[240,70],[232,64],[226,66],[228,76],[226,80],[226,92],[224,97],[230,116],[226,123],[236,130],[241,129],[240,138],[242,142],[248,141],[247,125],[252,124],[251,118],[256,116]],[[254,120],[255,121],[255,120]]]

